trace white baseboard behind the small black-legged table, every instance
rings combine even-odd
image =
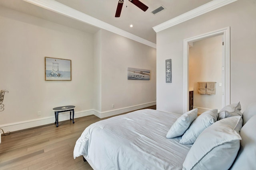
[[[6,132],[6,131],[13,132],[13,131],[19,131],[22,129],[28,129],[28,128],[32,128],[32,127],[51,124],[51,123],[55,122],[54,113],[52,113],[52,114],[53,114],[53,116],[50,116],[50,117],[43,117],[43,118],[39,118],[39,119],[32,119],[32,120],[28,120],[28,121],[20,121],[20,122],[0,125],[0,128],[3,129],[4,132]],[[91,110],[85,110],[85,111],[78,111],[78,112],[75,112],[74,114],[75,114],[74,117],[78,118],[78,117],[93,115],[94,111],[91,109]],[[59,119],[59,122],[69,120],[70,112],[68,111],[65,113],[60,113],[58,116],[58,119]]]

